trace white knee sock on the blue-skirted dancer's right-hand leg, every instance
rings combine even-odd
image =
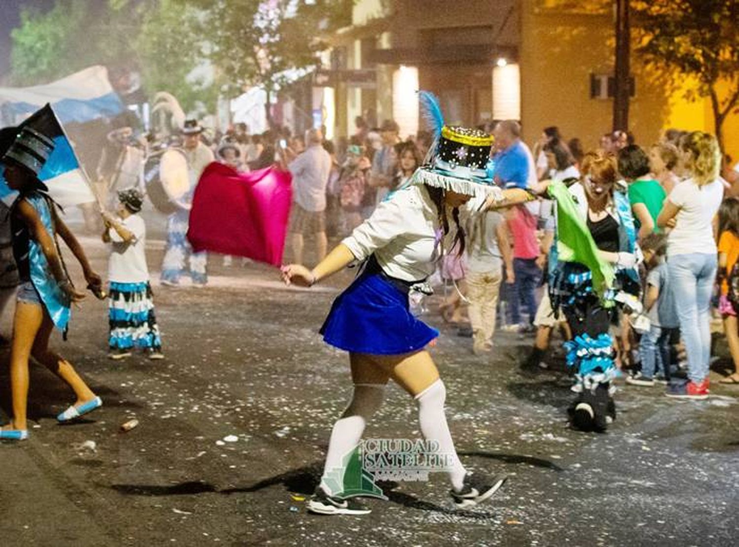
[[[452,481],[452,487],[455,490],[461,490],[467,471],[460,458],[457,457],[452,434],[449,433],[449,425],[446,424],[445,399],[446,388],[441,378],[439,378],[415,396],[415,400],[418,401],[418,421],[420,421],[420,431],[423,433],[423,438],[437,441],[441,454],[453,455],[452,468],[449,469],[449,480]]]

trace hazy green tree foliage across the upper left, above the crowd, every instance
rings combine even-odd
[[[61,78],[92,64],[140,71],[150,94],[185,110],[214,108],[219,92],[268,93],[299,77],[348,24],[352,0],[57,0],[24,10],[13,30],[13,84]]]

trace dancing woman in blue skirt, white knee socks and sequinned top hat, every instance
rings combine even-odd
[[[458,507],[486,500],[505,482],[504,475],[472,475],[457,457],[444,415],[446,389],[424,349],[439,333],[412,316],[408,295],[413,285],[434,273],[443,255],[440,242],[449,232],[449,217],[457,225],[456,239],[464,250],[460,208],[474,214],[523,203],[531,196],[521,189],[500,190],[474,177],[480,171],[484,176],[491,137],[469,129],[439,129],[436,157],[416,171],[408,186],[378,205],[316,268],[298,264],[282,268],[287,284],[310,287],[354,260],[366,262],[362,273],[333,302],[321,327],[325,342],[349,352],[354,393],[331,432],[324,474],[308,504],[312,512],[369,512],[337,491],[341,488],[332,479],[342,469],[344,457],[358,446],[391,378],[418,404],[423,438],[435,441],[440,454],[449,458],[446,470]],[[446,161],[452,158],[454,163]]]

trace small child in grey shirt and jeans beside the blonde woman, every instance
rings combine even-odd
[[[655,380],[670,382],[670,339],[678,327],[675,299],[667,277],[667,236],[650,234],[641,243],[647,279],[644,286],[644,313],[650,327],[641,335],[639,356],[641,372],[627,376],[626,383],[633,386],[653,386]],[[662,377],[655,373],[661,370]]]

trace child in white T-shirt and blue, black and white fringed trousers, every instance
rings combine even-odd
[[[112,244],[109,258],[109,357],[124,359],[134,348],[149,359],[163,359],[162,340],[146,265],[146,224],[138,215],[143,194],[136,188],[118,192],[117,214],[103,214],[103,241]]]

